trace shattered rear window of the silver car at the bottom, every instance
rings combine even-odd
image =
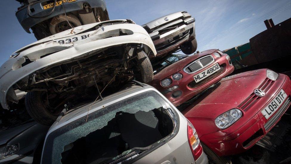
[[[129,153],[134,150],[130,148],[130,143],[129,146],[127,145],[128,148],[122,149],[120,145],[118,146],[118,151],[114,152],[115,147],[113,144],[116,143],[116,138],[122,133],[122,131],[118,130],[118,128],[121,128],[120,124],[116,124],[116,122],[119,121],[119,116],[126,114],[135,114],[135,116],[139,114],[141,114],[140,116],[148,114],[148,116],[153,116],[156,113],[154,109],[165,111],[166,109],[171,110],[171,107],[159,94],[154,91],[148,91],[89,114],[87,122],[85,116],[74,122],[68,123],[49,134],[45,143],[42,162],[63,163],[64,160],[68,159],[67,157],[70,156],[68,154],[72,154],[70,152],[74,151],[74,148],[78,150],[80,148],[83,149],[77,156],[82,155],[82,159],[85,160],[84,163],[90,163],[92,161],[96,163],[107,163],[106,161],[112,160],[112,157],[116,157],[116,154],[120,156],[120,154],[124,154],[124,151]],[[158,116],[156,115],[156,117],[153,118],[153,122],[157,118]],[[153,128],[155,127],[152,126],[151,129],[153,130]],[[172,130],[173,129],[171,129],[171,131]],[[94,137],[92,138],[92,136]],[[145,136],[147,140],[151,137],[150,134]],[[162,139],[162,137],[164,136],[160,136],[160,139]],[[142,137],[139,137],[139,140],[142,140],[141,138]],[[99,143],[100,141],[101,143]],[[106,144],[104,144],[104,141]],[[86,143],[90,144],[88,145]],[[119,149],[122,149],[122,151]],[[97,151],[102,151],[102,157],[96,155]],[[94,153],[94,155],[92,155],[92,153]],[[104,153],[106,154],[105,157],[103,155]]]

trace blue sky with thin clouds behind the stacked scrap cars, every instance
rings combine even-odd
[[[291,17],[290,0],[106,0],[110,19],[132,19],[144,24],[177,11],[188,11],[195,19],[199,51],[225,50],[249,42],[266,30],[264,20],[278,24]],[[19,3],[0,1],[0,65],[19,48],[35,42],[18,23],[15,11]]]

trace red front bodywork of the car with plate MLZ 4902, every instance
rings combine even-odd
[[[174,85],[179,85],[180,88],[176,89],[182,91],[182,95],[180,97],[177,98],[173,98],[171,95],[173,93],[167,93],[164,94],[167,99],[169,99],[175,106],[180,105],[184,102],[186,102],[187,100],[191,99],[193,96],[199,94],[200,92],[204,91],[206,88],[210,87],[211,85],[219,82],[219,80],[221,80],[223,77],[227,76],[228,74],[232,73],[234,70],[233,65],[229,64],[229,60],[226,59],[227,54],[222,54],[221,57],[216,57],[213,55],[214,52],[217,52],[216,49],[212,49],[212,50],[206,50],[203,51],[201,53],[197,53],[195,55],[186,57],[182,60],[179,60],[175,63],[173,63],[172,65],[169,65],[168,67],[164,68],[163,70],[161,70],[159,73],[154,75],[154,80],[152,82],[149,83],[149,85],[152,85],[153,87],[157,88],[157,90],[159,90],[160,92],[165,91],[168,88],[171,88]],[[208,65],[207,67],[205,67],[202,70],[199,70],[195,73],[185,73],[183,71],[183,68],[188,65],[189,63],[193,62],[194,60],[202,57],[202,56],[206,56],[211,54],[215,61],[211,64]],[[222,71],[222,73],[219,76],[216,76],[215,78],[211,79],[210,81],[206,82],[205,84],[196,87],[196,88],[189,88],[187,85],[193,81],[193,76],[202,72],[203,70],[215,65],[216,63],[219,63],[220,66],[223,65],[224,70]],[[175,81],[172,79],[172,75],[175,73],[181,73],[183,75],[182,79],[179,81]],[[162,85],[160,84],[161,80],[165,79],[165,78],[171,78],[172,79],[172,84],[169,85],[168,87],[162,87]]]

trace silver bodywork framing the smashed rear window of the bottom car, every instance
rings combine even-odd
[[[159,148],[155,149],[154,151],[150,152],[146,156],[140,158],[135,163],[163,163],[167,161],[170,161],[171,163],[208,163],[208,159],[204,153],[202,153],[197,162],[195,162],[194,160],[187,136],[188,120],[168,99],[165,98],[165,96],[163,96],[159,91],[149,85],[144,85],[143,87],[134,85],[123,91],[107,96],[102,101],[96,102],[89,111],[89,114],[105,108],[106,106],[119,102],[123,99],[127,99],[131,96],[135,96],[146,91],[154,91],[159,94],[177,112],[179,117],[179,130],[176,136],[174,136],[171,140],[169,140]],[[72,121],[86,116],[88,114],[88,109],[91,105],[92,103],[89,103],[77,110],[71,110],[71,112],[67,113],[59,122],[55,122],[49,129],[45,142],[48,135],[53,131],[61,128],[62,126],[66,126]],[[45,147],[43,147],[43,150],[44,149]],[[44,154],[42,154],[42,156],[43,155]]]

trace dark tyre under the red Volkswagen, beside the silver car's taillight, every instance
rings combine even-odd
[[[204,143],[201,142],[203,151],[208,157],[209,163],[215,164],[232,164],[231,161],[226,160],[223,157],[219,157],[216,153],[214,153],[210,148],[208,148]]]

